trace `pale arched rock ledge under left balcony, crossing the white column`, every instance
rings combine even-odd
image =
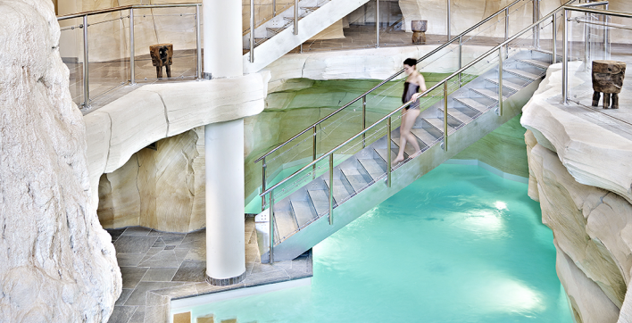
[[[262,112],[268,79],[270,73],[262,72],[232,79],[146,85],[84,116],[90,126],[87,157],[95,210],[102,174],[120,169],[132,155],[160,139]],[[203,168],[204,162],[198,167]]]

